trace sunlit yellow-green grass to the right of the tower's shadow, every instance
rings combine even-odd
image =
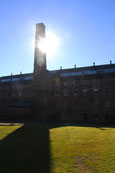
[[[115,172],[114,134],[114,128],[51,129],[52,172]]]

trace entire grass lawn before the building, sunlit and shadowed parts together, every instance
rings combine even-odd
[[[115,128],[0,126],[0,173],[115,172]]]

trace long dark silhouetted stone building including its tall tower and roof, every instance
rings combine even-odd
[[[36,25],[34,72],[0,78],[1,118],[115,122],[115,64],[49,71]]]

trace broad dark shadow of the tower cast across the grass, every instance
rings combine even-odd
[[[50,173],[49,126],[23,125],[0,141],[1,173]]]

